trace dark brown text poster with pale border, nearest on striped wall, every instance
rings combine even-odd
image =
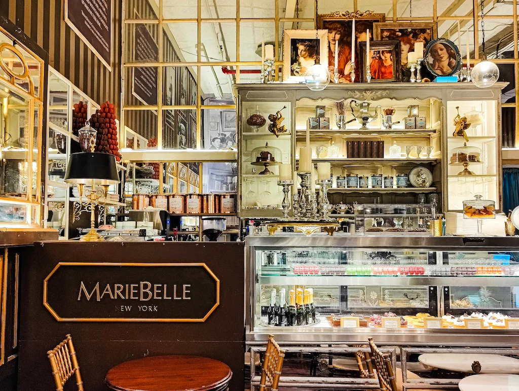
[[[65,22],[110,72],[113,7],[113,0],[65,0]]]

